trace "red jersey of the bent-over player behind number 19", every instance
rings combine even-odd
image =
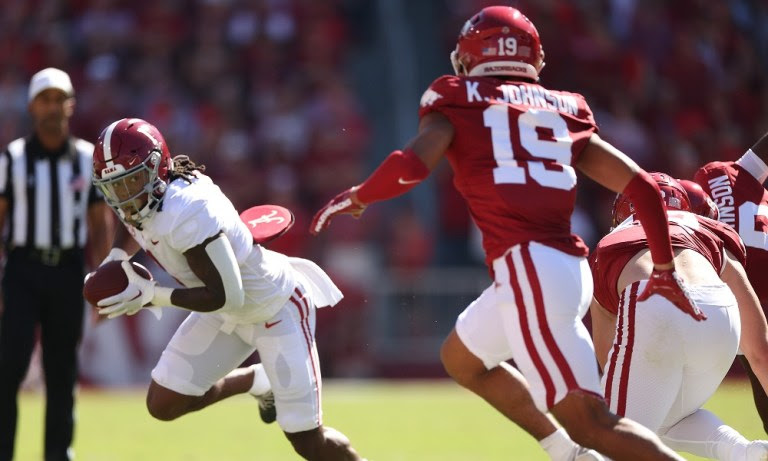
[[[723,223],[686,211],[670,211],[669,236],[673,248],[687,248],[703,255],[719,274],[723,269],[723,249],[744,263],[746,252],[738,234]],[[619,306],[619,276],[639,251],[648,248],[639,221],[627,220],[600,240],[589,258],[595,283],[595,299],[616,314]]]

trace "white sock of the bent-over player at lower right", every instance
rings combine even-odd
[[[661,436],[670,448],[703,458],[744,459],[749,441],[707,410],[683,418]]]

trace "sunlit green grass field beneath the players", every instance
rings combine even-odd
[[[140,390],[82,392],[76,459],[296,459],[277,424],[266,426],[259,420],[250,397],[236,396],[169,423],[153,420],[143,399]],[[43,400],[37,393],[21,398],[18,461],[42,459]],[[325,424],[347,434],[371,461],[547,459],[533,439],[449,381],[328,381],[324,408]],[[707,408],[747,438],[765,436],[746,382],[724,384]]]

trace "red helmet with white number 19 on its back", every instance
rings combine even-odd
[[[451,53],[456,75],[511,75],[538,81],[544,50],[536,26],[511,6],[489,6],[461,28]]]

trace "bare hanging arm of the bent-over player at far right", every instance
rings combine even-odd
[[[768,392],[768,325],[763,309],[749,283],[744,267],[735,258],[726,255],[720,278],[733,291],[741,317],[739,347],[763,389]]]

